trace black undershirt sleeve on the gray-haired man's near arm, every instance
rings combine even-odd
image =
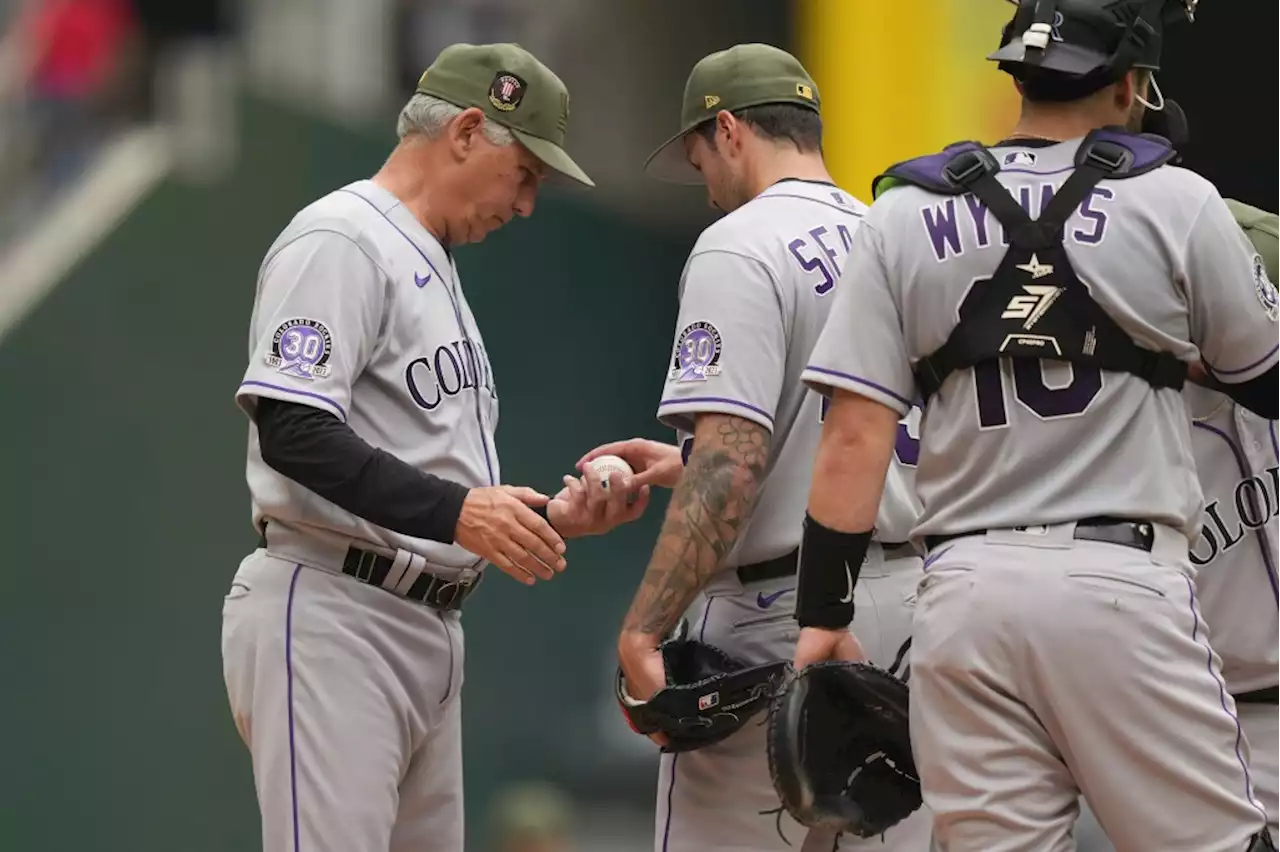
[[[275,472],[370,523],[453,544],[465,485],[370,446],[319,408],[260,397],[255,420],[262,461]]]

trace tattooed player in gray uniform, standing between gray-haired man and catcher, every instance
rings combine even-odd
[[[637,700],[666,683],[655,649],[686,610],[694,637],[744,663],[792,654],[799,523],[824,413],[800,370],[865,210],[831,182],[818,105],[817,86],[790,54],[730,47],[694,67],[681,130],[648,165],[658,177],[705,184],[727,214],[699,237],[680,281],[658,406],[680,440],[596,448],[580,464],[588,482],[570,477],[571,494],[558,495],[582,503],[598,487],[586,462],[603,453],[637,471],[632,487],[675,489],[618,640]],[[922,567],[906,544],[918,510],[914,429],[908,418],[897,431],[878,537],[851,590],[865,652],[901,675]],[[831,835],[780,815],[764,738],[753,722],[716,746],[662,756],[655,852],[781,852],[801,838],[805,849],[833,848]],[[883,838],[841,838],[836,848],[924,852],[929,819],[919,810]]]

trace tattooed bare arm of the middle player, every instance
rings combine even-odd
[[[694,452],[671,495],[625,631],[662,636],[724,564],[759,494],[769,431],[731,414],[698,420]]]

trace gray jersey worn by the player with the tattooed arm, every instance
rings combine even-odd
[[[773,436],[760,496],[728,567],[800,544],[826,403],[800,384],[867,207],[820,182],[782,180],[703,232],[680,281],[659,420],[687,448],[694,416],[736,414]],[[914,434],[886,484],[878,539],[905,541],[916,504]],[[687,449],[686,449],[687,452]]]

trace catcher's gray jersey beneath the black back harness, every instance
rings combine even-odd
[[[998,179],[1038,216],[1078,147],[993,148]],[[1103,180],[1065,235],[1080,280],[1139,344],[1201,357],[1226,383],[1280,359],[1280,299],[1203,178],[1166,166]],[[913,363],[947,339],[969,288],[996,270],[1005,246],[972,194],[887,192],[854,235],[804,380],[906,412],[916,397]],[[1034,307],[1034,293],[1020,298]],[[923,417],[915,533],[1120,516],[1194,537],[1202,494],[1189,432],[1179,393],[1129,375],[1052,362],[959,371]]]

